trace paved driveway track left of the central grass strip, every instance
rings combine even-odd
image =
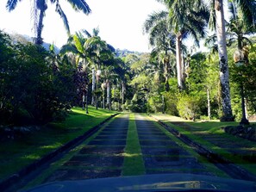
[[[128,115],[120,115],[45,182],[120,177],[127,132]]]

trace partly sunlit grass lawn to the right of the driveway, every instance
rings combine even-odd
[[[241,167],[256,174],[256,164],[250,163],[239,155],[234,155],[229,152],[229,149],[236,148],[237,145],[240,149],[256,150],[256,143],[247,139],[242,139],[225,133],[222,127],[237,126],[238,122],[220,122],[220,121],[185,121],[182,118],[178,118],[172,115],[153,115],[157,119],[165,122],[167,125],[178,130],[179,133],[183,133],[190,139],[195,140],[197,143],[208,148],[210,151],[222,155],[224,158],[228,158],[235,164],[240,164]],[[225,147],[216,146],[209,140],[204,139],[206,136],[215,136],[215,138],[222,139],[222,142],[226,142]]]

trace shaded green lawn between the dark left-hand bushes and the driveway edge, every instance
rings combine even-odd
[[[38,132],[0,144],[0,180],[11,176],[34,160],[56,150],[68,141],[107,119],[114,111],[89,107],[89,115],[81,108],[72,108],[72,113],[62,122],[52,122]]]

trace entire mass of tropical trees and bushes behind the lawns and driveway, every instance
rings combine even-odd
[[[91,11],[82,1],[70,2],[84,13]],[[70,34],[59,53],[54,46],[47,51],[1,32],[1,123],[63,119],[72,106],[88,114],[89,104],[234,121],[241,116],[241,84],[247,116],[253,115],[255,2],[229,1],[226,22],[221,0],[158,2],[166,9],[148,15],[143,24],[151,53],[115,49],[100,37],[99,28]],[[8,1],[7,8],[15,9],[16,3]],[[186,39],[194,46],[186,46]],[[198,49],[203,41],[206,53]],[[234,53],[240,53],[243,66],[235,65]]]

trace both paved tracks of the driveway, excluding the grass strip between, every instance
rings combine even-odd
[[[103,177],[121,177],[128,133],[128,115],[119,115],[84,145],[44,183]],[[146,174],[192,173],[214,176],[196,157],[172,141],[154,121],[135,115]]]

